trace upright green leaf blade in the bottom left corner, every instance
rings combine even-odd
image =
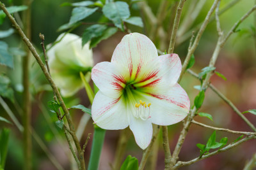
[[[0,167],[4,169],[6,155],[8,152],[8,141],[10,136],[10,129],[4,128],[1,132],[0,138]]]

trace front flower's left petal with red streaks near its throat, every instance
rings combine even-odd
[[[92,80],[106,96],[118,98],[122,95],[129,75],[111,62],[100,62],[92,69]]]

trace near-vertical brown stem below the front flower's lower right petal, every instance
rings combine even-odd
[[[163,146],[164,146],[164,169],[170,169],[172,154],[168,141],[168,128],[163,126]]]

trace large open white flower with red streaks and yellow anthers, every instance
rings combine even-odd
[[[158,56],[147,36],[124,36],[111,62],[92,69],[99,88],[92,104],[93,121],[102,129],[129,125],[144,150],[152,138],[152,124],[172,125],[188,115],[188,95],[177,83],[180,71],[177,54]]]

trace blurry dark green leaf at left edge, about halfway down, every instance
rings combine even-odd
[[[10,87],[10,82],[7,76],[0,74],[0,96],[8,98],[14,103],[14,93],[13,89]]]

